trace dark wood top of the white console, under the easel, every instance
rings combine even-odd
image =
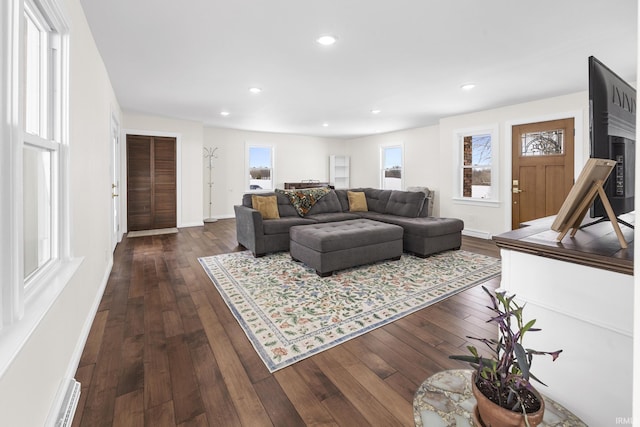
[[[551,216],[530,221],[520,229],[494,236],[493,240],[500,248],[633,275],[633,229],[620,224],[629,245],[626,249],[620,247],[618,237],[609,222],[580,229],[574,237],[567,234],[558,242],[559,233],[550,228],[554,218],[555,216]],[[635,224],[635,213],[625,214],[620,218]],[[587,217],[583,224],[593,221],[594,218]]]

